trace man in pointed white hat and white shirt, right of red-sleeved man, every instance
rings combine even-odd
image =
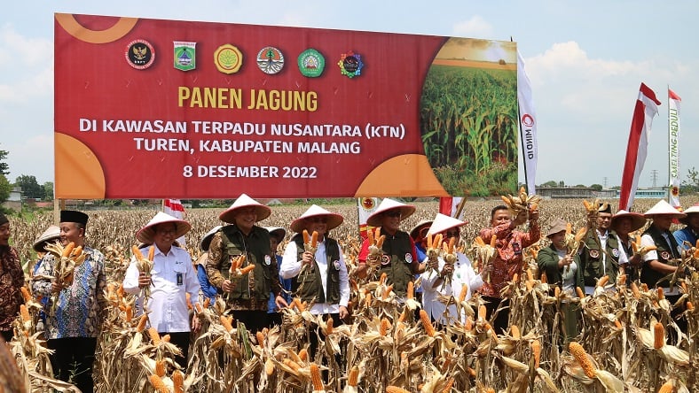
[[[429,235],[442,234],[445,243],[449,243],[452,237],[456,238],[455,244],[459,244],[459,228],[466,225],[466,222],[454,219],[442,213],[437,213],[435,220],[428,229]],[[453,320],[466,322],[466,312],[461,315],[457,312],[456,302],[462,295],[461,291],[466,290],[464,299],[471,298],[471,294],[483,286],[481,274],[475,274],[471,261],[462,252],[454,251],[456,259],[453,264],[445,262],[445,256],[440,255],[434,261],[431,269],[422,274],[422,288],[424,297],[422,304],[425,312],[428,312],[432,320],[438,321],[441,325],[450,325]],[[437,299],[437,295],[449,297],[449,308]]]

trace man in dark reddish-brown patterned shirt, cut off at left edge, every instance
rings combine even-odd
[[[20,257],[10,246],[10,220],[0,212],[0,333],[6,342],[12,340],[12,321],[24,302],[20,295],[23,285]]]

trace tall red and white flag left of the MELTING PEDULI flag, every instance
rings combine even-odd
[[[626,146],[619,210],[632,211],[633,195],[638,189],[639,176],[643,171],[643,164],[646,163],[648,155],[648,135],[650,127],[653,125],[653,118],[656,117],[658,111],[657,105],[660,105],[660,101],[657,100],[656,93],[641,83],[639,97],[633,110],[629,143]]]

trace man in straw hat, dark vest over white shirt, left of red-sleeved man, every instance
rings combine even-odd
[[[330,230],[342,224],[342,216],[313,204],[291,223],[296,235],[284,250],[281,276],[293,278],[291,289],[302,302],[313,304],[310,313],[328,316],[334,326],[340,326],[349,316],[349,276],[340,244],[328,236]],[[316,249],[304,243],[302,232],[318,234]],[[310,354],[315,355],[318,335],[310,334]]]

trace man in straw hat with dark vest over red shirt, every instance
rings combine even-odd
[[[376,268],[378,274],[387,275],[387,283],[393,285],[393,291],[398,297],[407,295],[408,282],[413,280],[414,274],[421,273],[424,266],[420,267],[415,243],[410,235],[399,229],[402,220],[415,212],[415,206],[402,204],[390,198],[384,198],[367,219],[370,227],[381,227],[381,235],[386,236],[382,245],[381,256],[376,257],[369,253],[369,240],[362,243],[359,251],[359,266],[357,275],[365,278],[369,266]]]

